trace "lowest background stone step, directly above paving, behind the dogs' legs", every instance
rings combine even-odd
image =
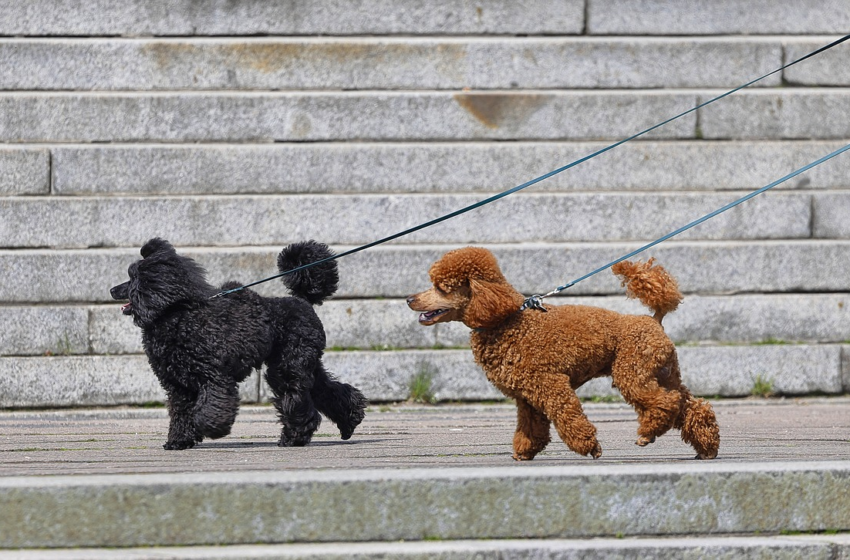
[[[841,394],[850,390],[850,347],[841,344],[680,346],[682,378],[701,396]],[[420,382],[437,401],[504,398],[469,350],[330,351],[326,367],[373,402],[404,401]],[[0,357],[0,407],[111,406],[164,402],[144,355]],[[241,385],[246,402],[267,400],[256,374]],[[578,391],[618,395],[609,378]]]

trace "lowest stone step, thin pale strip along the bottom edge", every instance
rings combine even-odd
[[[156,548],[0,551],[0,560],[461,560],[466,558],[843,558],[850,554],[845,534],[783,536],[705,536],[666,538],[499,539],[327,544],[254,544]]]

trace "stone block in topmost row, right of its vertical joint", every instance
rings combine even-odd
[[[844,0],[588,0],[594,35],[846,33]]]

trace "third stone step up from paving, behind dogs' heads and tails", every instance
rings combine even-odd
[[[291,239],[289,241],[298,241]],[[339,298],[402,298],[429,286],[428,269],[453,245],[381,245],[338,261]],[[545,293],[622,257],[638,243],[489,245],[506,278],[524,294]],[[277,274],[280,247],[178,248],[208,271],[208,280],[253,282]],[[353,249],[335,246],[338,252]],[[686,294],[847,291],[850,242],[668,241],[636,258],[654,257]],[[138,249],[56,251],[0,250],[0,301],[11,303],[111,302],[109,288],[127,279]],[[279,281],[257,286],[265,295],[286,295]],[[617,294],[610,272],[570,288],[570,294]]]

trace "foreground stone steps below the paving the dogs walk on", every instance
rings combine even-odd
[[[847,468],[12,478],[0,480],[8,515],[0,547],[29,550],[0,550],[0,559],[844,558],[850,539],[830,528],[846,527],[850,515]],[[761,536],[780,529],[786,534]],[[807,531],[819,534],[795,536]],[[45,550],[53,547],[61,548]]]

